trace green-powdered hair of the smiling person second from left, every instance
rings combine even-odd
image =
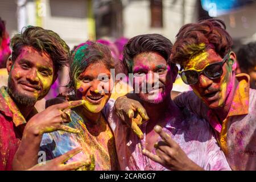
[[[114,60],[107,46],[97,42],[87,41],[77,46],[71,52],[69,59],[69,77],[67,85],[69,89],[75,89],[75,83],[79,75],[92,63],[102,63],[108,69],[115,68]]]

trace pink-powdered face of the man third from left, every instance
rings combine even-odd
[[[158,104],[170,98],[173,79],[170,66],[158,53],[140,53],[133,59],[134,90],[146,102]]]

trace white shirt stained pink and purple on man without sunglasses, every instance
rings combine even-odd
[[[123,125],[115,114],[114,100],[109,100],[104,109],[114,133],[121,170],[168,170],[142,154],[142,150],[146,146],[146,137],[143,140],[139,139],[129,127]],[[205,170],[230,170],[225,155],[220,150],[208,122],[191,115],[191,113],[185,114],[184,112],[184,115],[187,118],[170,119],[163,130],[179,144],[189,159]],[[147,122],[140,126],[144,136],[146,136],[146,125]],[[162,139],[159,137],[159,140]],[[152,152],[155,154],[155,149]]]

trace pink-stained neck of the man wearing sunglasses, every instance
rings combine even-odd
[[[232,86],[232,89],[230,90],[230,93],[228,94],[228,97],[224,102],[224,106],[213,109],[214,113],[216,113],[221,122],[224,121],[224,119],[226,119],[226,117],[228,116],[230,106],[232,105],[234,94],[238,85],[238,80],[236,79],[236,77],[234,77],[233,83],[234,84]]]

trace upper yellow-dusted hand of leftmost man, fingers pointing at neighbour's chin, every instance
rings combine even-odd
[[[34,135],[51,133],[56,130],[79,133],[79,130],[63,124],[71,122],[71,109],[83,104],[84,101],[80,100],[49,106],[46,110],[34,115],[34,117],[28,121],[24,131],[28,131]]]

